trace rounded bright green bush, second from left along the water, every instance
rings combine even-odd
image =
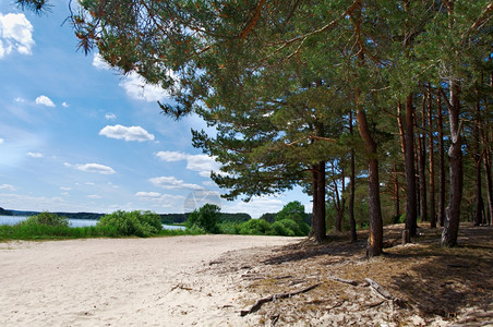
[[[135,235],[147,238],[156,235],[163,229],[160,217],[151,211],[122,211],[118,210],[105,215],[97,226],[111,226],[120,235]]]

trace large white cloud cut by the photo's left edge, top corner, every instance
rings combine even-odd
[[[0,59],[17,51],[21,55],[32,55],[33,25],[24,14],[0,13]]]

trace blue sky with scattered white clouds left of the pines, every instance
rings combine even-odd
[[[217,202],[219,165],[191,144],[201,119],[160,114],[165,90],[76,51],[68,1],[51,3],[37,16],[0,0],[0,207],[166,214]],[[311,210],[299,190],[220,206],[256,218],[290,201]]]

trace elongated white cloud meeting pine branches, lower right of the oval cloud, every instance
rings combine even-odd
[[[179,152],[158,152],[156,156],[163,161],[187,160],[187,169],[197,171],[202,177],[209,177],[211,171],[219,172],[220,164],[207,155],[188,155]]]

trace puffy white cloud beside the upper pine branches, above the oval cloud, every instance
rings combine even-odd
[[[168,98],[170,95],[159,85],[148,84],[137,73],[130,73],[124,76],[119,84],[125,90],[127,95],[135,100],[155,102]]]

